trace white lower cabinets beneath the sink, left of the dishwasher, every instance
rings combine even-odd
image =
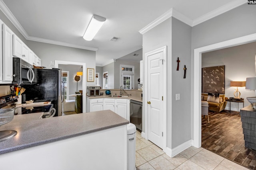
[[[111,110],[130,121],[130,100],[117,98],[97,98],[86,101],[86,111]],[[90,107],[90,108],[88,108]]]

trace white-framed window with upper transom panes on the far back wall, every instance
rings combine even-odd
[[[120,65],[120,86],[124,89],[134,89],[134,66]]]

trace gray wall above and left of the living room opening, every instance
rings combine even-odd
[[[191,60],[194,60],[194,49],[211,45],[214,43],[242,37],[256,33],[256,18],[255,6],[244,4],[224,14],[221,14],[208,21],[200,23],[192,27],[192,51]],[[194,89],[194,63],[191,63],[191,110],[193,110],[193,94]],[[193,112],[192,114],[192,139],[193,137]]]

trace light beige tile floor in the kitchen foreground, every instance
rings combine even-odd
[[[137,170],[247,170],[203,148],[190,147],[171,158],[136,131]]]

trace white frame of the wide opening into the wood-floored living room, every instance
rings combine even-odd
[[[202,119],[201,119],[201,81],[202,81],[202,53],[209,51],[214,51],[218,49],[224,49],[228,47],[234,47],[237,45],[242,45],[246,43],[251,43],[256,41],[256,33],[246,35],[243,37],[238,37],[235,39],[230,39],[227,41],[222,41],[220,43],[215,43],[212,45],[207,45],[194,49],[194,140],[192,140],[192,145],[194,147],[200,148],[202,144]],[[192,79],[193,80],[193,79]]]

